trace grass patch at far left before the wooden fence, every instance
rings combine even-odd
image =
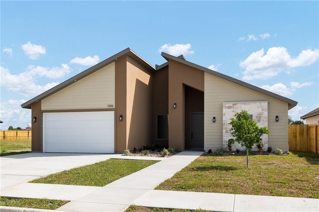
[[[1,153],[10,150],[31,150],[31,139],[1,139]]]

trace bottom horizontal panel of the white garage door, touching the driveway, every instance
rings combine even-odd
[[[48,144],[44,147],[48,149],[47,152],[76,152],[76,153],[113,153],[105,152],[104,150],[114,150],[114,144],[78,144],[74,145],[73,143],[66,143],[61,149],[56,144]]]

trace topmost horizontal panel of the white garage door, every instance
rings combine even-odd
[[[81,113],[81,115],[79,115]],[[114,120],[113,111],[45,113],[50,121]]]

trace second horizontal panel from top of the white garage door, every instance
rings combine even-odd
[[[44,121],[46,129],[77,129],[77,128],[114,128],[114,120],[90,120],[90,121]]]

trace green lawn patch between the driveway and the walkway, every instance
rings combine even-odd
[[[152,160],[108,159],[92,165],[51,174],[44,178],[32,180],[31,183],[105,186],[157,162]]]

